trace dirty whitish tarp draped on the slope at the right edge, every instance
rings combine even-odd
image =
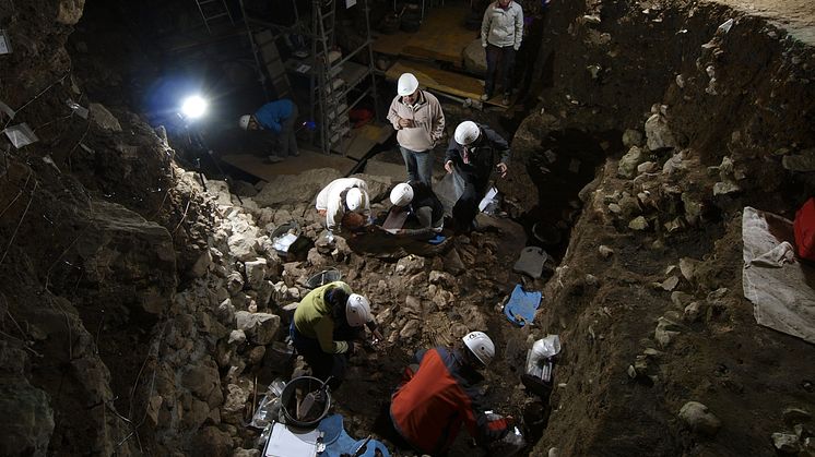
[[[745,206],[744,297],[758,324],[815,342],[815,268],[796,260],[792,233],[789,219]]]

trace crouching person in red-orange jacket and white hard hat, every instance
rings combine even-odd
[[[462,425],[481,445],[503,438],[511,417],[487,414],[480,373],[495,358],[495,344],[483,332],[471,332],[456,349],[436,347],[416,353],[391,397],[390,419],[397,442],[415,450],[445,455]],[[399,440],[401,438],[401,440]]]

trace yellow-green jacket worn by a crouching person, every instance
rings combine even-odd
[[[294,312],[294,326],[297,332],[317,339],[320,348],[327,353],[344,353],[349,350],[346,341],[334,341],[334,320],[331,316],[331,304],[326,301],[326,293],[340,287],[351,293],[351,286],[343,281],[329,282],[306,293]]]

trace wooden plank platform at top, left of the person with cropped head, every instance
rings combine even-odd
[[[469,11],[470,5],[466,2],[451,2],[432,8],[417,33],[397,32],[392,35],[380,35],[374,41],[374,51],[389,56],[438,60],[461,68],[461,52],[470,41],[479,37],[477,31],[464,28]]]

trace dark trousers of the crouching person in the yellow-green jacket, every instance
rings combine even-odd
[[[288,327],[288,333],[292,336],[292,344],[297,350],[297,353],[306,359],[306,363],[311,366],[311,374],[320,381],[328,380],[329,376],[333,376],[329,382],[329,387],[336,389],[345,378],[345,368],[349,363],[346,353],[328,353],[322,350],[320,342],[316,338],[309,338],[303,336],[297,332],[297,327],[294,326],[294,321]],[[346,327],[338,327],[334,329],[334,340],[347,340],[358,336],[358,330]]]

